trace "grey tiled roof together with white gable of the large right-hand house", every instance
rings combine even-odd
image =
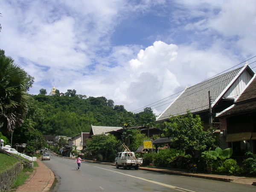
[[[186,87],[156,121],[168,121],[170,116],[184,115],[189,110],[198,114],[209,127],[209,92],[212,113],[218,113],[233,105],[234,100],[244,90],[254,75],[253,70],[245,64],[235,70],[203,81],[192,87]]]

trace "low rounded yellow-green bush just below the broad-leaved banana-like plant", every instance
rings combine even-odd
[[[220,166],[216,169],[216,172],[236,174],[239,172],[239,166],[237,165],[236,160],[227,159],[224,161],[223,166]]]

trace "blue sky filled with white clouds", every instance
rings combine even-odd
[[[128,111],[256,55],[255,0],[2,0],[0,13],[0,49],[35,77],[29,93],[55,84]]]

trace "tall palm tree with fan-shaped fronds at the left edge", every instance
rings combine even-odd
[[[0,131],[12,132],[23,123],[29,99],[27,73],[11,57],[0,55]]]

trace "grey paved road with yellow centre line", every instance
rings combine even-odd
[[[58,189],[54,189],[55,191],[254,192],[256,189],[255,186],[238,183],[167,175],[143,170],[123,170],[110,165],[84,161],[81,163],[81,171],[77,171],[74,161],[57,157],[54,154],[51,154],[51,160],[44,161],[60,177],[60,185]]]

